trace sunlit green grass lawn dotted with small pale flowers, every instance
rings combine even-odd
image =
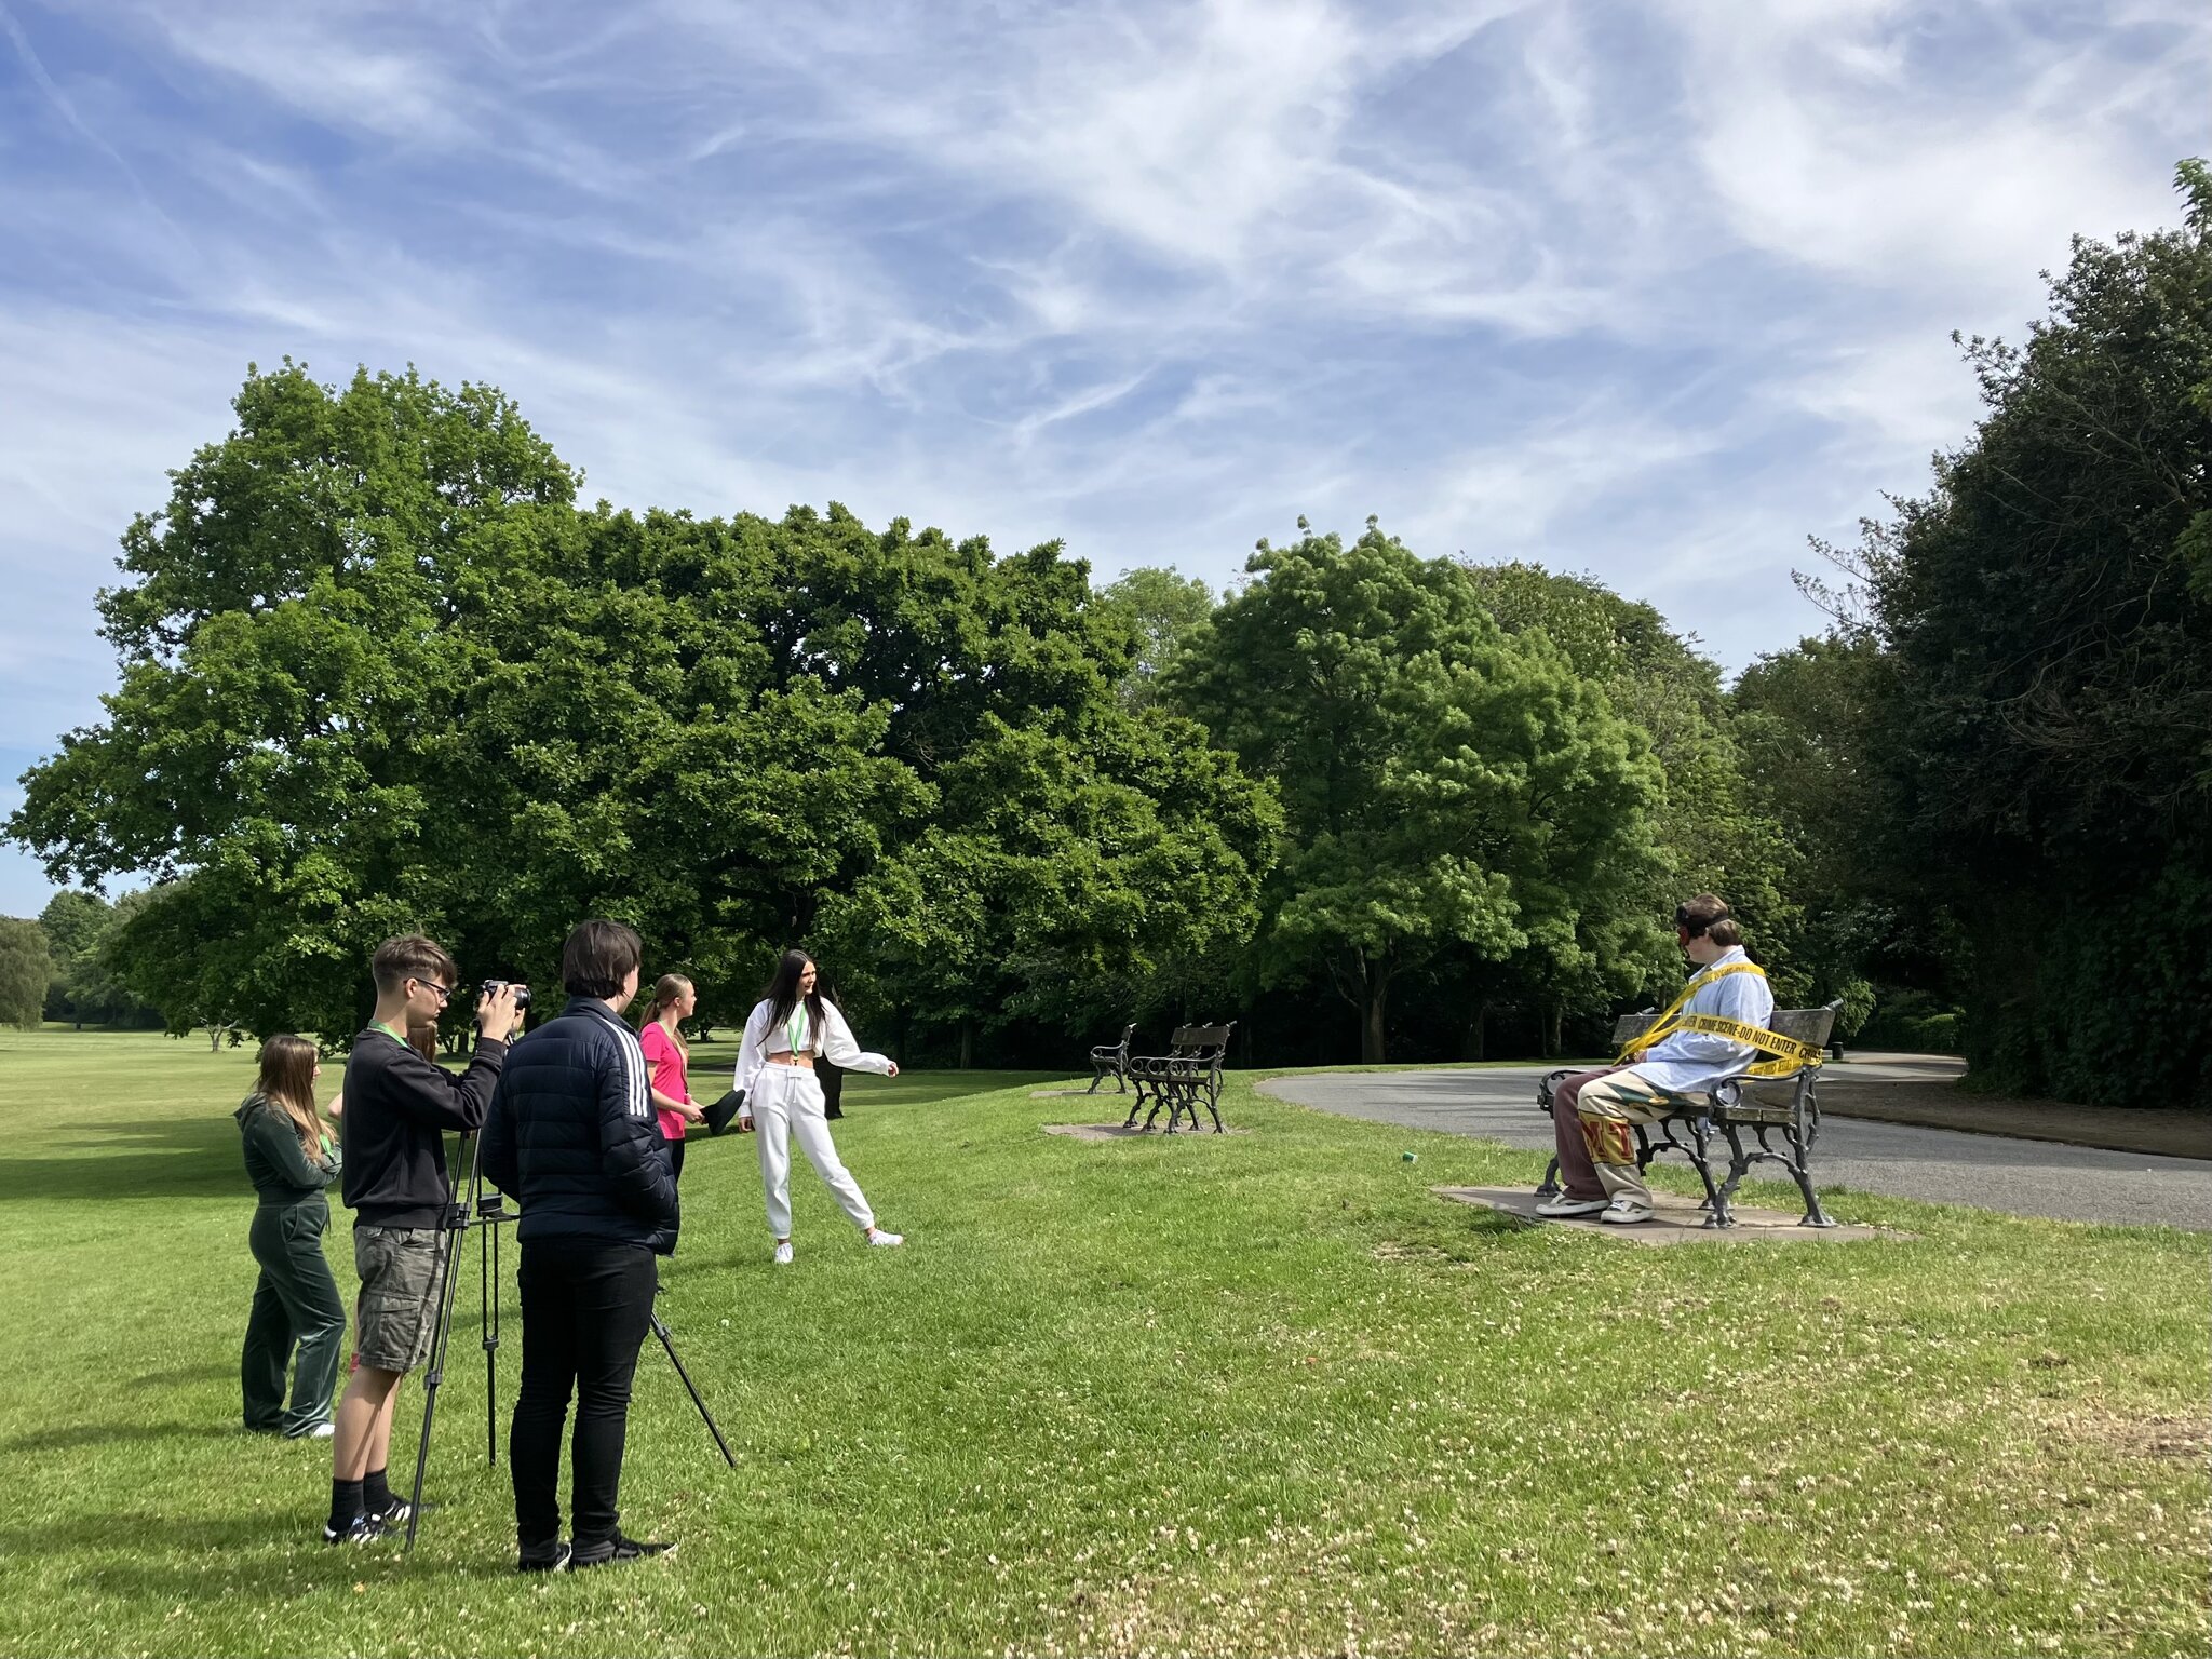
[[[752,1141],[697,1144],[661,1303],[739,1471],[655,1343],[624,1469],[679,1553],[513,1573],[473,1272],[442,1506],[325,1548],[327,1444],[239,1429],[250,1077],[0,1033],[4,1655],[2212,1650],[2201,1237],[1854,1197],[1916,1237],[1637,1250],[1427,1190],[1535,1155],[1237,1075],[1248,1135],[1106,1144],[1037,1077],[856,1077],[909,1245],[801,1168],[787,1270]]]

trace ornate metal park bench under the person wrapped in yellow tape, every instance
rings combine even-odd
[[[1843,1013],[1840,1002],[1829,1002],[1825,1009],[1776,1009],[1767,1020],[1767,1031],[1796,1037],[1812,1048],[1825,1048],[1829,1033],[1836,1029],[1838,1013]],[[1644,1013],[1624,1013],[1613,1024],[1615,1053],[1641,1037],[1657,1018],[1657,1011],[1650,1009]],[[1573,1068],[1553,1071],[1537,1082],[1535,1099],[1544,1117],[1551,1117],[1553,1091],[1573,1075]],[[1661,1152],[1681,1152],[1705,1183],[1705,1201],[1699,1206],[1705,1210],[1705,1225],[1732,1228],[1736,1219],[1730,1203],[1752,1164],[1781,1164],[1790,1170],[1790,1179],[1796,1181],[1805,1199],[1803,1225],[1834,1228],[1836,1223],[1820,1208],[1820,1194],[1812,1190],[1809,1172],[1812,1146],[1820,1137],[1818,1082],[1818,1060],[1781,1077],[1723,1077],[1712,1088],[1686,1097],[1686,1104],[1666,1117],[1635,1126],[1637,1168],[1650,1168],[1650,1161]],[[1657,1130],[1657,1139],[1652,1130]],[[1745,1144],[1745,1133],[1750,1133],[1754,1144]],[[1712,1144],[1714,1135],[1728,1141],[1728,1179],[1723,1181],[1712,1179],[1712,1155],[1719,1150]],[[1781,1137],[1781,1144],[1776,1146],[1772,1137]],[[1544,1186],[1537,1188],[1537,1197],[1548,1199],[1557,1192],[1559,1159],[1553,1157],[1544,1170]]]

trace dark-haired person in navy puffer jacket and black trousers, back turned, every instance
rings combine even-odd
[[[568,1006],[515,1044],[484,1119],[484,1175],[522,1206],[522,1389],[507,1436],[518,1566],[553,1573],[661,1555],[624,1537],[615,1498],[637,1349],[677,1243],[677,1183],[646,1057],[622,1022],[644,958],[622,922],[562,947]],[[560,1537],[560,1440],[571,1438],[573,1542]]]

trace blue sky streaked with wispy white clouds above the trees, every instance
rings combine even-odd
[[[626,507],[1212,582],[1378,513],[1741,666],[2205,86],[2201,0],[0,0],[0,812],[285,354],[493,380]]]

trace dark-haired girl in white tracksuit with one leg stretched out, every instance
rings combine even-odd
[[[852,1037],[852,1026],[838,1006],[816,989],[814,960],[805,951],[785,951],[776,978],[761,993],[745,1020],[745,1044],[737,1051],[737,1088],[745,1097],[739,1128],[761,1133],[761,1190],[768,1199],[768,1230],[776,1239],[776,1261],[792,1259],[792,1148],[823,1179],[852,1223],[872,1245],[898,1245],[905,1239],[876,1225],[876,1212],[860,1197],[860,1183],[836,1155],[830,1124],[823,1117],[823,1086],[814,1077],[816,1057],[827,1057],[845,1071],[874,1071],[896,1077],[898,1066],[872,1055]]]

